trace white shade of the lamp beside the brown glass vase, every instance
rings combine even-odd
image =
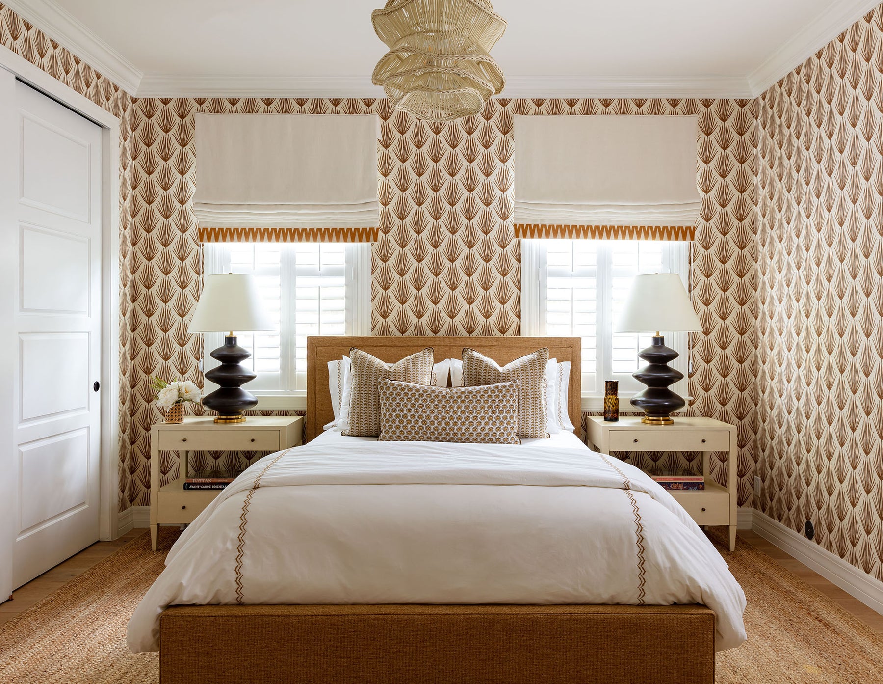
[[[676,273],[636,276],[614,332],[693,332],[702,323]]]

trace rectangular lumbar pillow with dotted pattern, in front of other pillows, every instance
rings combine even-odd
[[[381,380],[378,441],[517,445],[518,386],[435,387]]]

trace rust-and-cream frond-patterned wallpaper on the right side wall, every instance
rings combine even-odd
[[[758,123],[758,505],[883,580],[883,10]]]

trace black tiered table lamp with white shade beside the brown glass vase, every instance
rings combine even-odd
[[[614,332],[653,332],[653,345],[638,356],[647,362],[643,369],[632,373],[647,389],[631,398],[631,405],[645,412],[641,422],[650,425],[671,425],[671,414],[686,402],[668,389],[669,384],[683,378],[683,373],[669,368],[678,353],[665,346],[660,331],[702,331],[702,323],[693,310],[690,295],[676,273],[648,273],[636,276],[625,302],[623,315]]]

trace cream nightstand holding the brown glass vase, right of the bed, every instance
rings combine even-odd
[[[586,421],[588,441],[601,453],[702,452],[703,491],[670,490],[699,525],[728,525],[729,550],[736,548],[736,426],[713,418],[675,417],[674,425],[647,425],[640,418],[623,417],[605,422],[592,415]],[[727,487],[709,477],[712,452],[729,452]]]

